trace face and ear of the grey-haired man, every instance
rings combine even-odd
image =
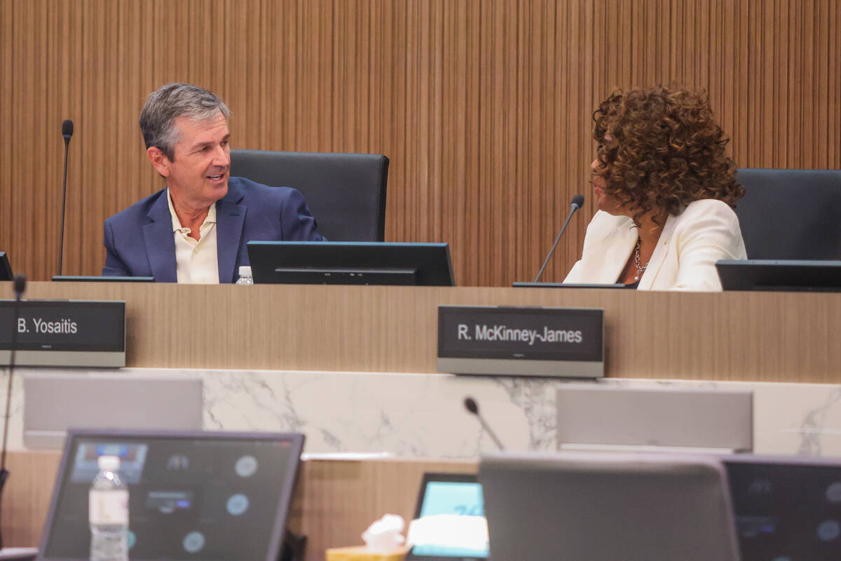
[[[178,117],[175,128],[179,135],[173,160],[156,148],[149,149],[149,159],[167,178],[173,201],[195,209],[209,207],[228,193],[230,130],[225,116],[219,113],[201,121]]]

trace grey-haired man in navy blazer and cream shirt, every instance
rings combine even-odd
[[[167,188],[105,220],[103,276],[233,283],[249,264],[248,241],[324,240],[297,190],[229,177],[229,114],[188,84],[149,95],[140,130]]]

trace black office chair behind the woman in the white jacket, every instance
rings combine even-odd
[[[738,170],[748,259],[841,259],[841,170]]]

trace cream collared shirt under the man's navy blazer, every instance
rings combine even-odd
[[[182,228],[181,220],[172,206],[167,188],[169,214],[172,215],[172,235],[175,236],[175,264],[179,284],[219,284],[219,254],[216,251],[216,205],[211,204],[207,218],[198,228],[198,241]]]

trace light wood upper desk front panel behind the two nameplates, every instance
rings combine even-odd
[[[603,308],[611,377],[841,381],[841,294],[30,283],[27,296],[125,300],[131,367],[431,373],[439,304],[517,304]]]

